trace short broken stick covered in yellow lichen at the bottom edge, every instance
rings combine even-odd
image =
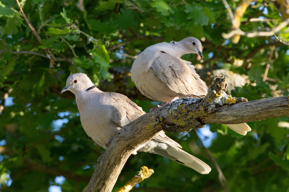
[[[121,187],[118,192],[127,192],[130,191],[136,184],[140,183],[146,178],[149,178],[153,174],[153,170],[147,168],[146,166],[142,166],[138,175],[134,176],[129,182],[125,184],[125,186]]]

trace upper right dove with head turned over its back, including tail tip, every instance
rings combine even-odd
[[[152,100],[170,102],[175,97],[202,98],[207,94],[207,85],[192,63],[181,59],[187,53],[196,53],[203,58],[201,48],[201,41],[194,37],[151,45],[134,60],[131,80]],[[251,131],[246,123],[227,126],[241,135]]]

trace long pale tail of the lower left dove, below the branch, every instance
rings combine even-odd
[[[197,157],[190,155],[189,153],[181,150],[179,147],[169,144],[166,145],[167,148],[165,150],[161,148],[154,148],[154,150],[150,152],[172,159],[180,164],[192,168],[201,174],[208,174],[211,171],[210,166],[208,166],[205,162],[201,161]]]

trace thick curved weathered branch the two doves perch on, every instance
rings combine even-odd
[[[155,109],[124,126],[101,157],[85,191],[112,191],[131,153],[161,130],[184,132],[209,123],[237,124],[289,116],[289,97],[245,102],[245,98],[225,94],[226,87],[226,79],[218,75],[205,98],[177,99],[167,109]]]

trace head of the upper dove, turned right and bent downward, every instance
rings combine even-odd
[[[181,41],[179,41],[181,45],[183,46],[184,49],[184,54],[187,53],[196,53],[199,54],[199,56],[203,59],[203,54],[202,54],[202,43],[199,39],[194,38],[194,37],[187,37]]]

